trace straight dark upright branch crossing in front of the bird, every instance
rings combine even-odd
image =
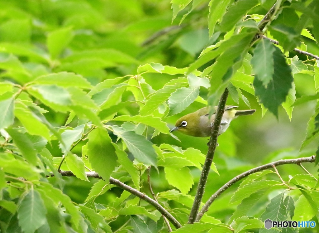
[[[223,114],[225,112],[225,105],[226,105],[227,97],[228,97],[228,89],[226,88],[224,93],[220,97],[220,100],[219,100],[214,124],[213,124],[212,130],[211,130],[211,139],[209,140],[209,143],[208,143],[208,151],[207,151],[205,163],[204,163],[203,170],[202,170],[202,173],[201,173],[200,178],[199,178],[197,192],[196,192],[196,196],[195,196],[192,210],[190,211],[188,223],[194,223],[194,221],[196,219],[196,215],[197,215],[198,210],[199,210],[199,206],[202,203],[202,198],[204,195],[204,189],[205,189],[205,185],[207,182],[207,177],[208,177],[209,171],[211,169],[211,163],[213,162],[214,153],[215,153],[215,149],[216,149],[216,145],[217,145],[217,137],[218,137],[218,133],[219,133],[220,122],[221,122],[221,119],[222,119]]]

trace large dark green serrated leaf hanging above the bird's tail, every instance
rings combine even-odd
[[[255,78],[254,87],[260,102],[278,118],[278,106],[286,101],[289,90],[292,88],[293,76],[290,67],[279,48],[273,53],[274,74],[267,88]]]

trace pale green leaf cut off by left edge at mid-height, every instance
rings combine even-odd
[[[0,129],[6,128],[13,124],[14,121],[14,99],[0,101]]]

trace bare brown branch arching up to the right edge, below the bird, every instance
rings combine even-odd
[[[226,184],[224,184],[219,190],[217,190],[209,199],[208,201],[205,203],[205,205],[203,206],[203,208],[201,209],[201,211],[198,213],[196,221],[200,221],[200,219],[202,218],[202,216],[204,215],[204,213],[208,210],[209,206],[211,205],[211,203],[217,198],[219,197],[220,194],[222,194],[226,189],[230,188],[230,186],[232,186],[233,184],[235,184],[236,182],[240,181],[241,179],[249,176],[250,174],[262,171],[262,170],[266,170],[268,168],[271,168],[273,166],[279,166],[279,165],[284,165],[284,164],[300,164],[300,163],[314,163],[315,162],[315,156],[310,156],[310,157],[305,157],[305,158],[298,158],[298,159],[282,159],[279,161],[275,161],[272,163],[268,163],[259,167],[255,167],[253,169],[250,169],[240,175],[237,175],[236,177],[234,177],[233,179],[231,179],[230,181],[228,181]]]

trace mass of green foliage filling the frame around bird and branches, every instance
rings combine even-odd
[[[234,90],[227,105],[257,111],[219,136],[212,167],[219,175],[209,174],[203,202],[253,167],[314,155],[318,61],[293,48],[319,54],[319,3],[278,1],[264,35],[282,46],[266,39],[250,45],[275,2],[1,0],[0,231],[167,232],[152,205],[108,183],[112,176],[152,197],[149,165],[159,203],[186,224],[207,138],[174,136],[169,128],[207,100],[216,104],[227,86]],[[210,84],[193,86],[191,75]],[[77,177],[59,175],[60,163]],[[314,164],[304,166],[318,177]],[[91,170],[105,181],[87,178]],[[296,164],[278,170],[304,190],[286,190],[269,172],[264,190],[236,202],[247,192],[236,183],[196,232],[259,232],[274,201],[287,206],[290,197],[294,216],[278,211],[281,219],[315,221],[299,232],[317,232],[317,182]]]

